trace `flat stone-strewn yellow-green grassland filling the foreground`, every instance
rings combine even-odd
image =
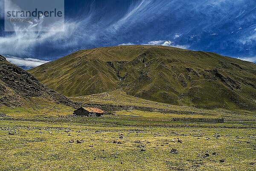
[[[180,123],[168,118],[136,110],[101,118],[3,118],[0,171],[256,170],[255,122]],[[178,153],[170,153],[172,148]]]

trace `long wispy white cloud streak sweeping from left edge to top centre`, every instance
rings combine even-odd
[[[101,41],[102,38],[106,40],[116,34],[116,29],[128,25],[128,21],[137,19],[143,20],[143,12],[153,11],[147,7],[152,6],[153,0],[140,0],[131,4],[128,12],[121,16],[119,20],[108,23],[99,20],[93,20],[93,16],[97,12],[91,12],[83,16],[81,20],[65,20],[64,32],[58,32],[59,23],[54,23],[48,27],[49,32],[20,32],[23,31],[19,27],[15,27],[15,32],[11,35],[0,37],[0,54],[13,56],[33,56],[35,54],[35,47],[41,45],[52,44],[56,48],[74,48],[84,44],[91,44]],[[161,3],[162,5],[164,3]],[[12,5],[9,5],[12,6]],[[12,6],[12,8],[14,8]],[[15,7],[18,9],[19,7]],[[109,24],[109,25],[106,25]],[[129,24],[130,25],[130,24]],[[115,28],[115,29],[113,29]],[[44,48],[42,46],[42,48]]]

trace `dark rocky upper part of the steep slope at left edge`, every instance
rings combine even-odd
[[[29,104],[33,97],[71,105],[68,98],[44,87],[29,72],[10,64],[0,55],[0,105],[22,106]]]

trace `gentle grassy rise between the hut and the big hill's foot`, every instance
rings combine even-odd
[[[140,99],[134,96],[129,96],[122,90],[114,90],[110,92],[98,93],[89,96],[70,97],[72,101],[78,102],[80,105],[116,105],[120,106],[118,110],[124,107],[128,111],[140,109],[151,111],[145,116],[159,116],[159,117],[202,117],[202,118],[226,118],[226,119],[256,119],[256,111],[249,110],[227,110],[223,108],[205,109],[196,108],[193,106],[177,106],[172,104],[160,103],[156,101],[149,101]],[[110,107],[111,112],[113,108]],[[172,113],[173,115],[158,115],[160,113]],[[135,114],[145,114],[145,112],[136,111]]]

